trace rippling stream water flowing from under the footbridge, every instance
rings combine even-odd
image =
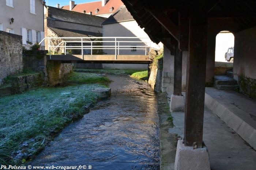
[[[108,76],[110,99],[61,131],[31,165],[159,169],[156,94],[146,82]]]

